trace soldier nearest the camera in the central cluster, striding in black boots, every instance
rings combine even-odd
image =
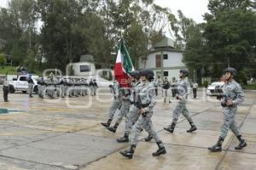
[[[158,145],[159,149],[154,152],[153,156],[160,156],[166,154],[166,148],[162,141],[160,140],[157,133],[154,131],[151,117],[153,116],[153,108],[156,104],[155,101],[155,92],[154,92],[154,84],[152,81],[154,80],[154,72],[146,69],[141,71],[141,82],[142,88],[141,92],[138,95],[138,102],[137,106],[140,110],[140,116],[133,127],[133,134],[131,138],[131,146],[129,150],[120,151],[119,153],[122,156],[127,158],[132,158],[134,154],[134,150],[137,145],[138,135],[141,132],[141,129],[144,128],[150,135],[153,136],[156,144]]]

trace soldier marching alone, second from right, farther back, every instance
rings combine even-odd
[[[185,77],[189,76],[189,71],[185,69],[180,70],[180,80],[177,82],[177,106],[172,113],[172,124],[168,127],[164,127],[164,129],[170,133],[173,133],[174,128],[177,124],[178,117],[182,113],[183,116],[189,121],[190,129],[187,130],[187,133],[192,133],[193,131],[197,130],[195,124],[190,116],[190,113],[186,107],[188,94],[189,94],[189,82],[185,81]]]

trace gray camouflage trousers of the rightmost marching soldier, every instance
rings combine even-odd
[[[236,111],[237,107],[224,107],[223,108],[223,124],[220,127],[220,137],[225,139],[228,134],[229,129],[231,129],[232,133],[236,136],[241,135],[238,127],[236,126]]]

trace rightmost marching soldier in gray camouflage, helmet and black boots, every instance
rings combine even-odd
[[[211,151],[222,150],[222,143],[224,142],[229,129],[231,129],[232,133],[234,133],[239,140],[238,146],[235,147],[236,150],[241,150],[243,147],[247,146],[245,139],[241,137],[241,133],[236,126],[237,105],[240,105],[241,102],[244,101],[244,94],[241,90],[241,86],[233,79],[236,76],[236,70],[229,67],[224,70],[224,73],[225,83],[222,87],[223,95],[221,99],[224,122],[220,128],[217,144],[208,148],[208,150]]]

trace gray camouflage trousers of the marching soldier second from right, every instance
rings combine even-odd
[[[187,101],[186,100],[179,100],[177,102],[176,108],[172,113],[172,122],[173,123],[177,123],[178,117],[180,116],[180,114],[183,114],[183,116],[190,122],[193,123],[193,120],[190,116],[189,110],[187,109],[186,106]]]

